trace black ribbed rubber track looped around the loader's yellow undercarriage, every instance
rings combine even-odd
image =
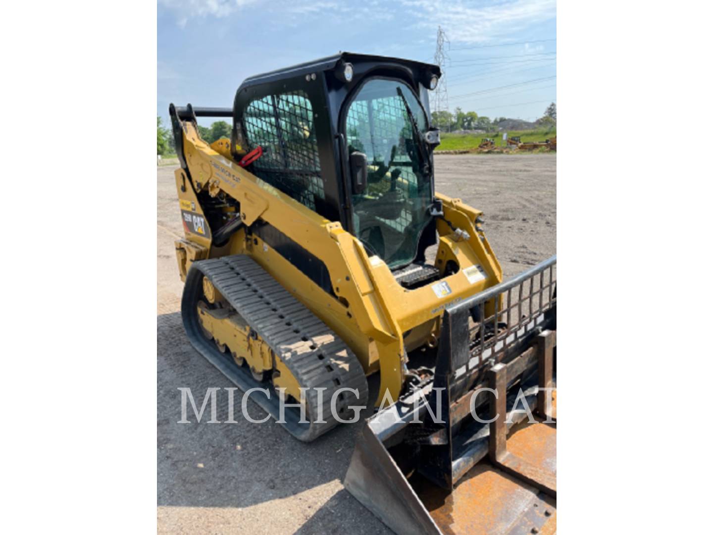
[[[204,357],[235,382],[244,392],[249,388],[266,388],[269,382],[257,382],[247,365],[239,367],[230,353],[217,350],[212,340],[202,335],[198,319],[198,300],[204,299],[202,279],[207,277],[215,288],[235,308],[250,327],[267,342],[275,355],[294,374],[306,392],[307,409],[312,419],[317,419],[319,397],[315,388],[322,391],[322,420],[325,423],[299,423],[299,409],[287,407],[287,430],[304,442],[309,442],[339,424],[330,407],[332,394],[339,388],[353,388],[355,394],[344,391],[337,398],[337,414],[351,419],[354,412],[348,408],[365,406],[369,399],[366,376],[352,350],[327,325],[312,314],[287,290],[279,285],[255,260],[246,255],[232,255],[193,263],[186,277],[181,302],[181,315],[188,338]],[[269,387],[270,399],[255,392],[250,399],[279,419],[278,394]],[[252,417],[255,418],[255,415]]]

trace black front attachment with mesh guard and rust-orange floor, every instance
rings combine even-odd
[[[434,378],[366,421],[344,486],[396,533],[555,529],[555,267],[448,307]]]

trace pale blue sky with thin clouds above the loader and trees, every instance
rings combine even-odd
[[[340,50],[432,61],[439,25],[451,111],[534,120],[556,102],[554,0],[158,0],[157,113],[230,107],[247,76]]]

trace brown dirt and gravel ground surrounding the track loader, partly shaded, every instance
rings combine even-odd
[[[436,156],[436,190],[483,210],[506,278],[555,253],[556,162],[550,154]],[[207,424],[207,413],[203,423],[177,423],[179,387],[190,387],[200,409],[207,388],[234,385],[190,347],[180,322],[173,171],[158,167],[158,532],[391,533],[342,487],[359,424],[303,444],[274,422]],[[225,390],[218,406],[225,421]],[[248,409],[265,416],[252,402]]]

